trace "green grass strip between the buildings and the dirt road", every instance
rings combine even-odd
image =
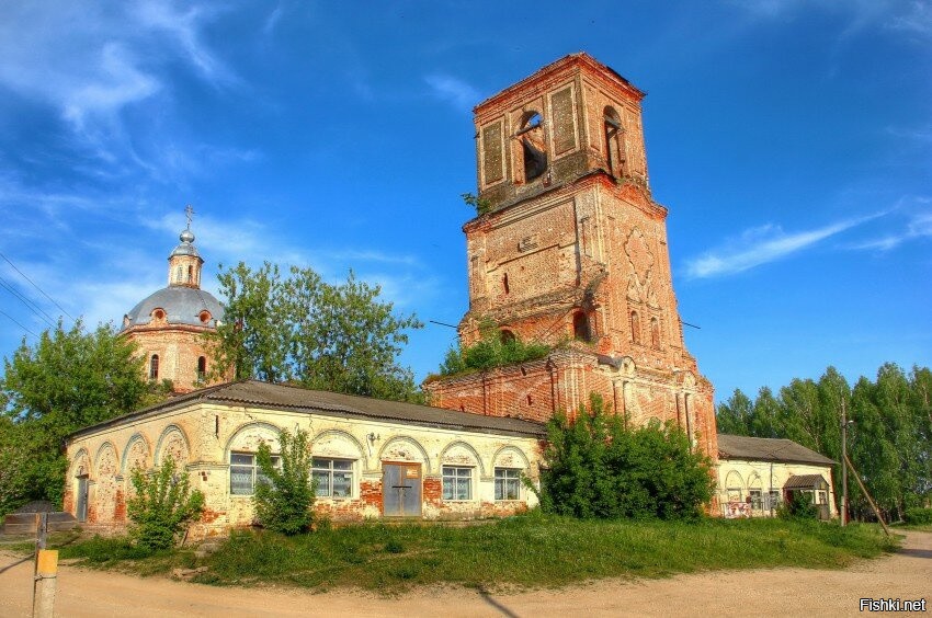
[[[875,526],[776,519],[692,523],[577,520],[541,515],[480,526],[365,524],[310,535],[234,533],[217,552],[145,554],[94,538],[62,558],[140,574],[205,565],[195,581],[398,593],[414,585],[557,587],[601,577],[661,577],[715,569],[837,569],[891,551]]]

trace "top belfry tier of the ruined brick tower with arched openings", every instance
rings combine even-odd
[[[479,103],[475,110],[479,198],[508,207],[588,174],[645,190],[645,93],[580,53]]]

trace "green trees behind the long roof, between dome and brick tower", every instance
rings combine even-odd
[[[380,299],[382,288],[350,272],[331,285],[311,268],[283,276],[265,262],[221,267],[224,323],[207,336],[214,375],[295,381],[314,389],[417,400],[410,369],[398,364],[407,331],[422,327]]]

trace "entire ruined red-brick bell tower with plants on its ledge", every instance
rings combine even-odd
[[[599,392],[629,422],[679,423],[715,456],[713,389],[683,343],[667,208],[648,182],[644,96],[573,54],[475,107],[480,214],[463,227],[461,345],[495,324],[555,348],[429,381],[435,405],[543,421]]]

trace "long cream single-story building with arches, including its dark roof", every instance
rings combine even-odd
[[[334,520],[470,518],[536,504],[543,425],[257,380],[197,390],[68,437],[65,511],[91,529],[126,525],[130,471],[171,456],[205,497],[193,539],[253,520],[262,442],[311,439],[318,513]]]

